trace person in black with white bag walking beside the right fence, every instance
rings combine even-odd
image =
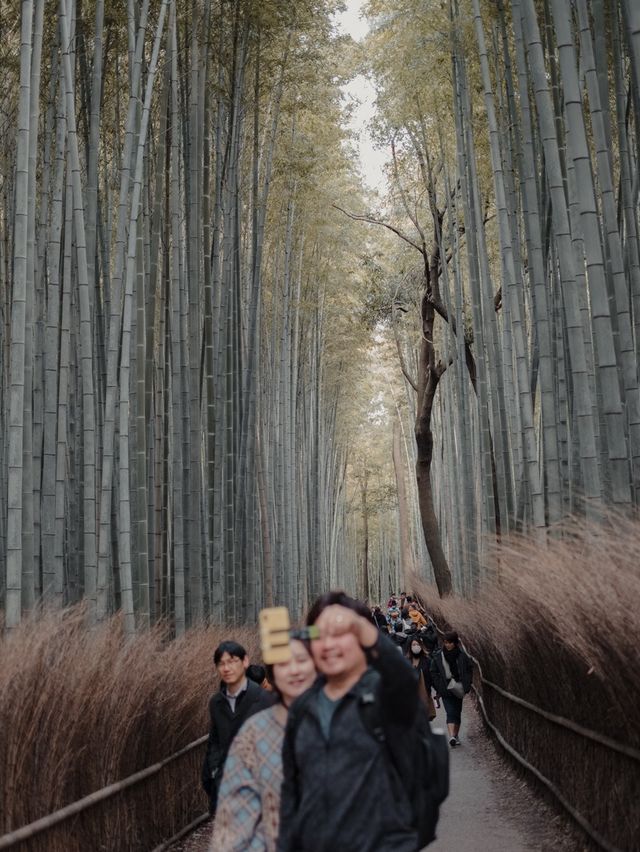
[[[460,745],[462,699],[471,689],[472,678],[473,660],[460,647],[458,634],[455,630],[445,633],[441,650],[431,660],[431,680],[444,703],[452,748]]]

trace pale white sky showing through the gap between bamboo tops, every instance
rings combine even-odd
[[[346,10],[335,18],[338,29],[348,33],[356,41],[360,41],[369,29],[366,19],[360,17],[364,4],[365,0],[347,0]],[[383,192],[386,188],[386,180],[382,169],[389,156],[386,151],[374,147],[368,128],[368,123],[375,112],[375,89],[366,77],[359,74],[343,86],[343,91],[347,98],[353,101],[355,107],[349,127],[356,135],[354,145],[360,156],[362,177],[371,189]]]

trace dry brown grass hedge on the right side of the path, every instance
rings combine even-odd
[[[483,675],[548,712],[640,749],[640,525],[575,522],[547,548],[512,540],[498,580],[473,601],[438,599]],[[489,717],[614,848],[637,850],[640,765],[478,684]]]

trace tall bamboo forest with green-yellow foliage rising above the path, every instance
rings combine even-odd
[[[5,630],[472,598],[637,510],[640,4],[344,7],[0,0]]]

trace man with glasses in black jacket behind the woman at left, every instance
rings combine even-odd
[[[202,786],[214,814],[222,770],[231,741],[245,719],[273,704],[273,696],[247,678],[249,657],[237,642],[227,640],[216,648],[213,662],[220,675],[220,691],[209,701],[209,741],[202,765]]]

